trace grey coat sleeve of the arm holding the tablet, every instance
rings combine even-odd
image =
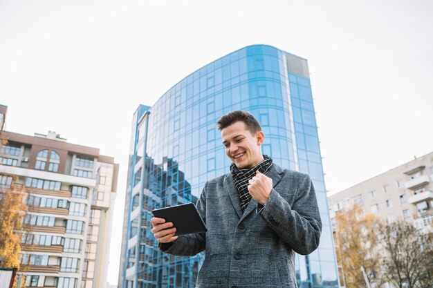
[[[206,182],[196,204],[196,209],[199,211],[199,215],[205,224],[207,186],[208,183]],[[205,240],[205,233],[187,234],[179,236],[177,240],[171,243],[158,243],[158,247],[164,253],[169,253],[175,256],[194,256],[205,250]]]

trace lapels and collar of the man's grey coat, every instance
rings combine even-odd
[[[275,187],[282,179],[283,174],[284,170],[274,162],[266,176],[272,178],[273,187]],[[242,213],[241,202],[239,200],[239,192],[237,191],[236,186],[234,186],[234,181],[231,173],[226,174],[224,177],[224,188],[225,191],[228,191],[228,195],[230,196],[230,200],[232,200],[233,207],[236,210],[239,219],[243,220],[243,218],[246,218],[246,216],[252,211],[254,211],[257,207],[257,201],[251,199],[245,211]]]

